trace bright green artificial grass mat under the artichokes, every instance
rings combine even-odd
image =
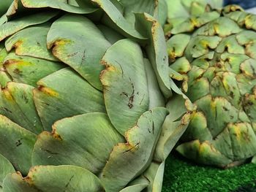
[[[172,153],[166,160],[162,192],[256,192],[256,164],[230,169],[200,166]]]

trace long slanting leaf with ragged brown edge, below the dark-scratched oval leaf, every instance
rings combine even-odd
[[[151,164],[166,115],[162,107],[144,112],[126,132],[127,143],[113,148],[101,174],[106,191],[120,191]]]

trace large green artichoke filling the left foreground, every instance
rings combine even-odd
[[[165,101],[186,97],[169,78],[158,1],[4,4],[0,190],[161,191],[190,113],[162,126]]]

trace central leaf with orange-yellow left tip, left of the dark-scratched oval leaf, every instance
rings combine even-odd
[[[102,92],[69,68],[49,74],[37,85],[34,103],[45,130],[51,131],[53,123],[62,118],[105,112]]]

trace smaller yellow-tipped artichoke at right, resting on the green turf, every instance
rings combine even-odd
[[[191,17],[167,39],[171,74],[197,109],[176,148],[201,164],[256,154],[256,15],[232,5]]]

